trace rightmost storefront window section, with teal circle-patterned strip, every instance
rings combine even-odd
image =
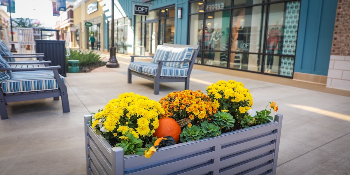
[[[265,41],[265,73],[293,76],[299,12],[300,1],[270,5]]]

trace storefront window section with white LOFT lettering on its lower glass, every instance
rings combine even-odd
[[[258,55],[262,52],[264,35],[264,6],[233,10],[230,68],[260,71]]]

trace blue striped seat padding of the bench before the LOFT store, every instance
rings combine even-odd
[[[148,74],[148,75],[155,75],[157,72],[158,65],[144,65],[142,66],[142,73]],[[160,76],[165,77],[187,77],[187,71],[186,69],[181,68],[173,68],[169,66],[162,66],[162,72]]]

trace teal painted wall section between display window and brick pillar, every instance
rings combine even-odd
[[[294,72],[328,74],[336,0],[302,0]]]

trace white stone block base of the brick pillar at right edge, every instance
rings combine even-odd
[[[330,56],[326,86],[350,91],[350,56]]]

